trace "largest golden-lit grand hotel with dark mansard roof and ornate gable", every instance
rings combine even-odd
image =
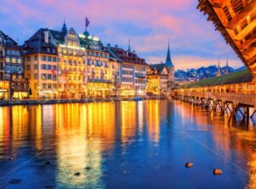
[[[64,22],[61,31],[40,29],[26,41],[25,49],[33,97],[83,99],[114,94],[119,64],[109,59],[101,40],[88,31],[67,30]]]

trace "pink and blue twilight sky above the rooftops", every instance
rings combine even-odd
[[[84,31],[84,17],[90,20],[91,35],[105,45],[118,44],[131,49],[150,63],[166,59],[168,39],[176,69],[218,64],[243,66],[233,49],[214,30],[198,9],[195,0],[2,0],[0,30],[24,42],[41,27],[61,30],[67,27]]]

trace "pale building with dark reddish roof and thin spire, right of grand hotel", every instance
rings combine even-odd
[[[130,43],[127,51],[117,45],[111,47],[108,44],[110,57],[119,63],[119,74],[117,73],[118,93],[120,96],[143,96],[146,95],[147,67],[144,59],[137,56],[135,51],[131,52]]]

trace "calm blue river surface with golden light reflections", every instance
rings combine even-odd
[[[255,126],[168,100],[0,107],[0,188],[45,186],[256,188]]]

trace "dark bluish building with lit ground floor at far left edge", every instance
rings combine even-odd
[[[25,99],[28,94],[20,46],[0,31],[0,99]]]

